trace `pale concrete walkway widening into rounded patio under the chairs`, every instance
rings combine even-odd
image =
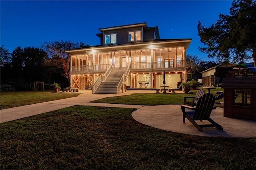
[[[0,123],[22,119],[41,113],[46,113],[74,105],[99,106],[99,107],[124,107],[136,108],[132,113],[132,117],[145,125],[159,128],[162,130],[178,132],[183,134],[191,134],[197,136],[219,136],[219,137],[242,137],[256,138],[256,121],[248,121],[243,119],[232,119],[223,117],[223,108],[217,108],[212,111],[211,118],[222,125],[224,130],[216,128],[204,128],[203,132],[197,130],[190,121],[186,119],[186,123],[182,122],[182,111],[180,105],[158,105],[158,106],[142,106],[142,105],[120,105],[109,103],[89,103],[97,99],[105,97],[115,97],[121,95],[130,95],[132,93],[155,93],[155,91],[126,91],[125,93],[116,94],[94,94],[92,91],[80,91],[78,97],[49,101],[33,105],[14,107],[10,109],[0,110]],[[176,93],[181,93],[177,91]],[[207,122],[207,121],[206,121]]]

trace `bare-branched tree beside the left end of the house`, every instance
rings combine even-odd
[[[61,73],[61,75],[64,76],[69,82],[70,54],[65,51],[68,49],[90,47],[90,45],[85,45],[82,42],[73,43],[71,41],[64,42],[61,40],[60,42],[54,41],[42,43],[41,47],[47,51],[49,55],[49,58],[45,61],[45,66],[50,67],[53,71]]]

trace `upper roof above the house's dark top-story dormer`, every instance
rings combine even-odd
[[[106,27],[106,28],[99,28],[100,32],[108,31],[108,30],[118,30],[118,29],[123,29],[123,28],[132,28],[132,27],[138,27],[142,26],[144,30],[154,30],[156,34],[156,38],[160,39],[159,31],[158,31],[158,26],[156,27],[148,27],[146,22],[143,23],[137,23],[137,24],[128,24],[128,25],[122,25],[122,26],[113,26],[113,27]],[[96,36],[100,37],[102,33],[96,34]]]

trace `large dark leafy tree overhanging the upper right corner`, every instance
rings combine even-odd
[[[253,59],[256,66],[256,1],[233,1],[230,15],[219,14],[210,27],[199,21],[198,36],[206,47],[199,50],[219,62]]]

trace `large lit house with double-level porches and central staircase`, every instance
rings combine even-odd
[[[123,88],[177,88],[186,81],[186,50],[192,39],[160,39],[146,23],[100,28],[100,45],[70,49],[70,82],[92,93]]]

